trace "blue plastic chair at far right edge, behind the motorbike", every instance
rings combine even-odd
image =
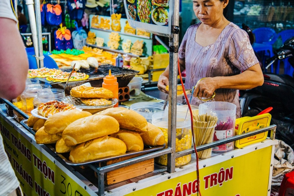
[[[280,33],[278,33],[278,37],[282,38],[283,44],[285,41],[287,41],[289,38],[294,37],[294,29],[289,29],[289,30],[283,30]],[[290,65],[288,58],[282,60],[284,62],[284,74],[288,74],[292,77],[293,75],[293,67]],[[280,69],[280,61],[278,61],[277,66],[276,66],[276,74],[279,74],[279,69]]]

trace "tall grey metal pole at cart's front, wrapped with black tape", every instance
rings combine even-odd
[[[178,75],[178,48],[179,48],[179,0],[173,1],[173,15],[171,19],[171,34],[169,42],[169,105],[168,105],[168,147],[171,153],[167,154],[167,172],[175,172],[176,158],[176,118],[177,118],[177,75]]]

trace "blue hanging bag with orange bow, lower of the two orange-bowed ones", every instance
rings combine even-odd
[[[72,49],[72,34],[66,27],[62,27],[54,32],[54,44],[56,50]]]

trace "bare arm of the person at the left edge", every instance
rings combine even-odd
[[[16,98],[25,88],[29,63],[16,22],[0,18],[0,97]]]

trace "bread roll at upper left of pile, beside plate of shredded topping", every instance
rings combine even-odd
[[[62,133],[63,130],[72,122],[77,119],[81,119],[87,116],[91,116],[90,112],[79,111],[77,109],[71,109],[64,112],[58,112],[49,116],[44,124],[45,132],[48,134]]]

